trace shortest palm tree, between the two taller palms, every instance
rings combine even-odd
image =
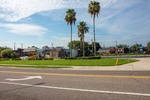
[[[85,57],[84,53],[84,33],[89,32],[89,27],[86,27],[86,22],[82,21],[80,22],[80,25],[78,25],[78,35],[81,33],[81,37],[83,38],[83,57]]]

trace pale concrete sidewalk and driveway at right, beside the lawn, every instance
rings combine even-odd
[[[150,58],[134,58],[140,61],[119,66],[71,66],[65,70],[114,70],[114,71],[150,71]]]

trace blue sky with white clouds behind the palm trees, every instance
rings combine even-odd
[[[73,40],[79,40],[77,25],[85,21],[90,28],[85,41],[93,39],[93,18],[87,13],[91,0],[0,0],[0,46],[16,48],[44,45],[67,48],[70,26],[66,11],[76,11]],[[146,46],[150,41],[150,0],[96,0],[101,11],[96,17],[96,42]]]

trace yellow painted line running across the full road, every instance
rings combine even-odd
[[[2,72],[2,73],[19,73],[19,74],[57,75],[57,76],[114,77],[114,78],[150,78],[150,76],[82,75],[82,74],[35,73],[35,72],[14,72],[14,71],[0,71],[0,72]]]

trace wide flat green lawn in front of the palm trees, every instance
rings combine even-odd
[[[115,66],[117,59],[102,58],[102,59],[84,59],[84,60],[21,60],[21,61],[0,61],[0,64],[17,64],[17,65],[67,65],[67,66]],[[118,65],[135,62],[135,59],[119,59]]]

